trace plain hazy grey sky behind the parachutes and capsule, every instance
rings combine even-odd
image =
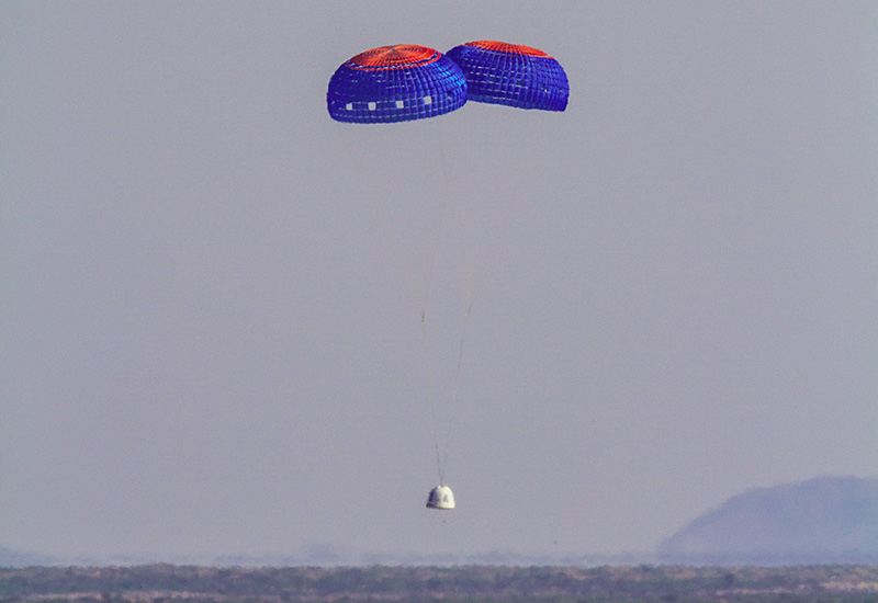
[[[486,38],[567,111],[326,112]],[[873,2],[3,2],[0,546],[618,553],[877,476],[876,47]]]

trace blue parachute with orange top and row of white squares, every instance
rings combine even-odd
[[[466,102],[466,78],[446,55],[425,46],[382,46],[342,64],[326,105],[338,122],[385,124],[449,113]]]

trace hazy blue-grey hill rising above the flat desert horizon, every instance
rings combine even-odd
[[[684,526],[657,553],[682,564],[878,562],[878,479],[754,488]]]

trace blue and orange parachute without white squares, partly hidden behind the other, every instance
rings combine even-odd
[[[567,107],[567,75],[542,50],[484,39],[455,46],[448,57],[466,76],[471,101],[544,111]]]

